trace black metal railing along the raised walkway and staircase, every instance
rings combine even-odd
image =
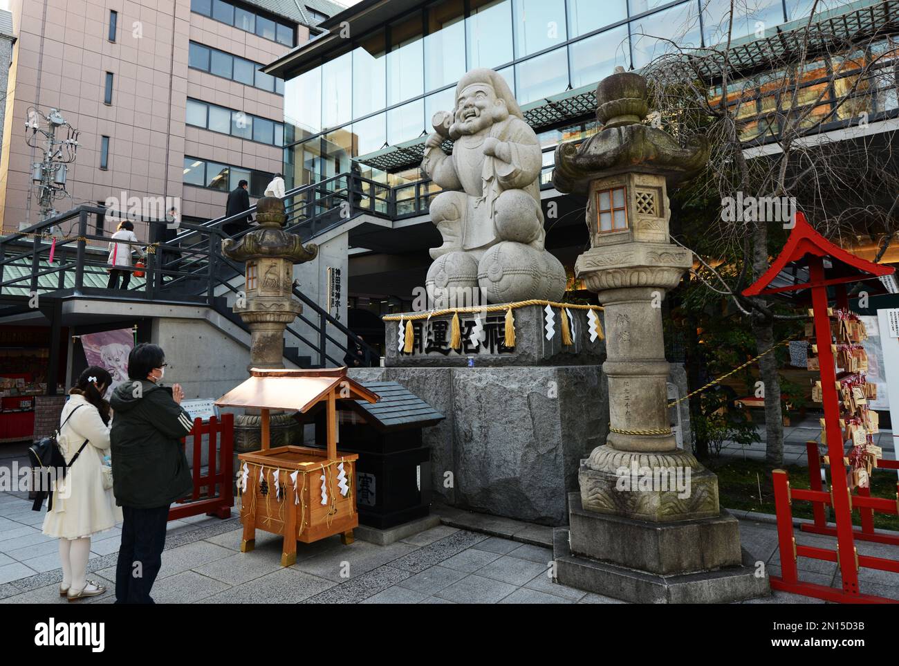
[[[379,207],[390,211],[392,197],[381,183],[343,173],[324,183],[306,185],[288,191],[287,228],[299,233],[304,242],[362,214],[387,217]],[[325,192],[327,200],[314,198]],[[387,191],[387,196],[385,195]],[[298,199],[303,197],[304,199]],[[290,200],[289,203],[287,200]],[[336,209],[336,213],[333,211]],[[255,208],[250,209],[252,214]],[[102,285],[110,268],[108,251],[91,244],[107,244],[109,236],[89,233],[92,217],[114,215],[127,218],[118,211],[100,206],[83,205],[55,218],[31,225],[19,232],[0,237],[0,294],[20,293],[51,297],[98,296],[125,297],[147,301],[205,304],[243,328],[249,327],[227,306],[227,294],[238,296],[243,287],[245,266],[221,253],[225,237],[239,238],[252,229],[228,236],[222,224],[236,218],[218,218],[205,224],[181,222],[173,240],[147,246],[144,277],[133,277],[127,289],[107,289]],[[392,211],[391,211],[392,212]],[[165,224],[165,220],[149,220]],[[67,233],[53,230],[69,227]],[[144,245],[116,239],[117,243]],[[49,262],[50,253],[54,262]],[[15,275],[11,275],[13,271]],[[286,356],[298,365],[325,368],[341,366],[353,345],[362,350],[365,365],[378,365],[378,352],[296,287],[293,295],[303,304],[298,316],[306,331],[288,326]],[[335,337],[336,336],[336,337]],[[293,343],[293,344],[291,344]],[[293,345],[296,346],[293,346]],[[290,352],[289,350],[293,350]],[[330,351],[329,351],[330,350]],[[313,360],[315,357],[315,360]]]

